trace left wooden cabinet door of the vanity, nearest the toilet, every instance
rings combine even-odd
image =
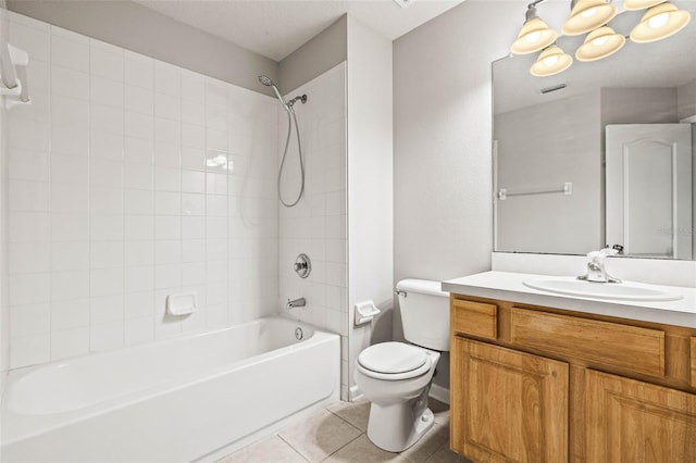
[[[568,461],[568,364],[453,337],[451,447],[473,461]]]

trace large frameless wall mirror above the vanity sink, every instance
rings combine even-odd
[[[696,259],[696,2],[674,4],[692,14],[676,35],[555,76],[530,74],[538,53],[493,63],[495,251]]]

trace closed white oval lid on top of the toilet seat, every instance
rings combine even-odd
[[[403,342],[381,342],[360,352],[358,363],[373,372],[396,374],[417,370],[425,364],[423,349]]]

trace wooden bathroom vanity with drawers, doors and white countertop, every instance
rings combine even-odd
[[[450,291],[451,449],[478,462],[696,461],[696,290],[545,293],[486,272]]]

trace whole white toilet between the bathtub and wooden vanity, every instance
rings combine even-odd
[[[439,281],[403,279],[396,286],[407,342],[381,342],[358,355],[355,379],[370,405],[368,437],[401,452],[433,427],[427,408],[435,366],[449,351],[449,293]]]

